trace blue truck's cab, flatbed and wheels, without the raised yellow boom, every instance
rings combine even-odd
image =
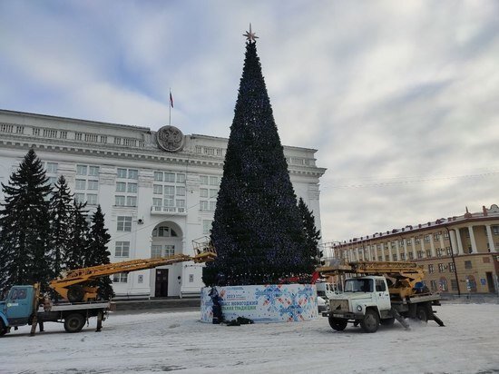
[[[78,332],[91,317],[97,317],[97,331],[100,331],[108,312],[114,309],[111,301],[53,303],[40,297],[38,284],[14,286],[5,300],[0,301],[0,337],[25,325],[31,325],[34,335],[36,325],[44,330],[44,322],[64,323],[67,332]]]

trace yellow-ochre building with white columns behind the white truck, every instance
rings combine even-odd
[[[499,207],[331,243],[342,261],[414,261],[426,286],[448,293],[499,290]]]

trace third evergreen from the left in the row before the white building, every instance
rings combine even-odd
[[[84,208],[86,202],[76,202],[73,200],[73,220],[69,229],[69,240],[71,248],[65,253],[66,269],[81,269],[85,266],[85,256],[88,252],[88,222],[86,217],[88,211]]]

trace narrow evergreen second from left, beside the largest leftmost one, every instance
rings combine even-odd
[[[54,191],[50,199],[50,221],[51,242],[50,254],[53,264],[53,277],[61,275],[65,268],[65,255],[71,251],[73,242],[70,240],[69,232],[73,220],[73,194],[64,175],[54,185]]]

